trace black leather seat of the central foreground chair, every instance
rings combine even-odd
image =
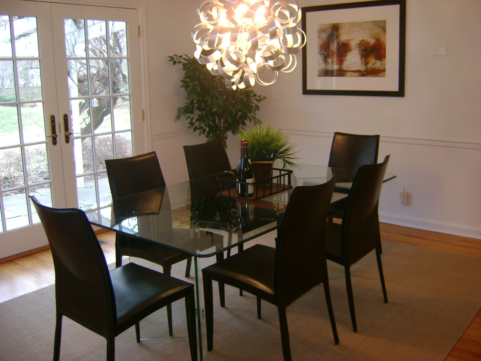
[[[276,264],[276,248],[266,245],[253,245],[241,253],[223,259],[203,272],[212,273],[212,279],[227,276],[241,283],[252,285],[274,297],[274,267]],[[229,282],[225,282],[229,284]],[[236,286],[236,285],[234,285]],[[244,288],[247,292],[249,289]]]

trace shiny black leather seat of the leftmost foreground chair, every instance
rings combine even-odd
[[[122,322],[135,317],[137,313],[145,313],[146,309],[159,300],[167,304],[168,296],[174,295],[177,300],[181,298],[178,292],[193,288],[193,285],[188,282],[135,263],[115,268],[110,271],[110,277],[114,287],[119,326]]]

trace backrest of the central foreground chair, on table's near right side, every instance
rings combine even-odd
[[[296,187],[292,191],[277,244],[278,306],[289,305],[328,276],[326,219],[335,178],[334,175],[327,183]]]

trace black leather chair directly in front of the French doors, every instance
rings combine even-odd
[[[128,158],[106,159],[105,165],[113,199],[165,187],[164,176],[155,152]],[[169,276],[173,264],[187,259],[185,276],[190,276],[192,256],[152,242],[116,233],[116,267],[122,265],[122,256],[138,257],[157,263]],[[167,306],[167,319],[169,335],[172,336],[172,308],[170,305]]]

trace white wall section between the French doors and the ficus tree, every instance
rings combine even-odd
[[[145,1],[148,64],[148,99],[152,150],[159,155],[167,184],[189,179],[182,146],[205,142],[205,137],[187,129],[187,122],[177,121],[177,107],[185,103],[185,92],[179,88],[183,76],[181,65],[172,65],[168,56],[193,56],[195,44],[190,31],[199,24],[197,0]],[[228,139],[228,154],[234,165],[239,157],[234,137]]]

